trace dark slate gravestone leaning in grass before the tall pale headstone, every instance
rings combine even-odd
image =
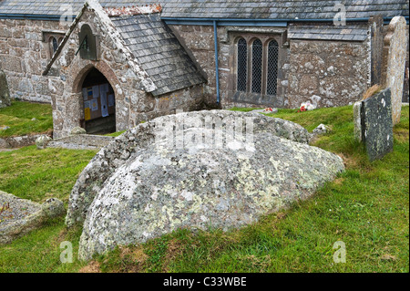
[[[382,159],[393,151],[391,95],[391,89],[386,88],[361,102],[361,140],[370,161]]]

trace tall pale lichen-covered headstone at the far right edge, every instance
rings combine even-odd
[[[405,17],[395,16],[388,26],[384,37],[384,87],[392,92],[393,125],[400,122],[403,88],[405,81],[405,54],[407,33]]]

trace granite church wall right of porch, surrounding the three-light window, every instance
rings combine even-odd
[[[206,101],[216,102],[212,26],[172,26],[208,77]],[[278,94],[272,106],[297,108],[310,100],[318,107],[352,104],[371,81],[370,42],[286,40],[281,28],[218,27],[220,99],[223,108],[261,107],[235,101],[235,36],[272,36],[280,44]],[[288,43],[287,43],[288,42]],[[289,47],[288,47],[289,46]],[[257,97],[255,97],[257,99]],[[263,106],[263,105],[262,105]]]

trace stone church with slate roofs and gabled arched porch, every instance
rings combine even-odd
[[[338,4],[3,0],[0,70],[12,98],[52,104],[55,137],[177,109],[342,106],[382,83],[385,27],[409,4]]]

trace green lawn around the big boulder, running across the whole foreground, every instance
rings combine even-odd
[[[240,230],[178,230],[146,244],[118,247],[89,264],[77,260],[81,229],[67,230],[60,218],[0,246],[0,272],[408,272],[409,108],[403,108],[395,126],[394,152],[373,163],[354,141],[352,106],[295,111],[282,109],[274,116],[310,131],[320,123],[331,126],[315,146],[341,155],[346,164],[346,171],[312,199]],[[34,147],[0,152],[0,190],[40,202],[53,195],[67,202],[94,154]],[[59,261],[63,241],[73,243],[73,264]],[[346,245],[345,264],[333,263],[337,241]]]

